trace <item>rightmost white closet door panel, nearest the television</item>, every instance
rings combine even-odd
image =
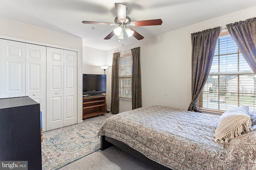
[[[77,123],[77,52],[64,50],[64,126]]]

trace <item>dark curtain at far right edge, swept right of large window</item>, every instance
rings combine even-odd
[[[227,24],[226,26],[245,61],[256,74],[256,18]]]

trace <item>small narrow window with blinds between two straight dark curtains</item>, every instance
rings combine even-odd
[[[132,99],[132,55],[119,58],[119,98]]]

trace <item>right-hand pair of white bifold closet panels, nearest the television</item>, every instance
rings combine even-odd
[[[77,123],[77,52],[46,51],[46,130],[52,130]]]

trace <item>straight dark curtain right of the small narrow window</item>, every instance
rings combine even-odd
[[[132,51],[132,110],[142,106],[141,75],[140,75],[140,47]]]

